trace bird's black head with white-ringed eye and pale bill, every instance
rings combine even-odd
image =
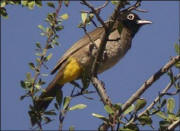
[[[138,32],[140,27],[145,24],[151,24],[151,21],[142,20],[138,15],[132,12],[121,15],[122,24],[132,32],[132,37]]]

